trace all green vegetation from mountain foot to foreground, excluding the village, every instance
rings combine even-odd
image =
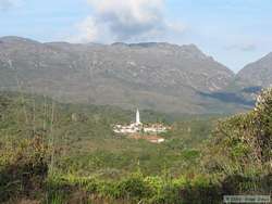
[[[0,203],[222,203],[224,194],[270,194],[272,91],[255,111],[169,116],[152,144],[114,135],[133,113],[0,94]]]

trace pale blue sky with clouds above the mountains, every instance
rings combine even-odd
[[[271,0],[0,0],[0,36],[194,43],[238,72],[272,52]]]

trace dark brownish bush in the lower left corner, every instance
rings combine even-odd
[[[0,202],[37,192],[47,173],[47,148],[39,138],[4,142],[0,151]]]

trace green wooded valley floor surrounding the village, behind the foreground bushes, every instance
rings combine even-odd
[[[0,143],[35,137],[50,145],[53,141],[60,151],[55,167],[66,171],[65,165],[71,164],[70,170],[85,176],[103,170],[104,176],[107,170],[127,174],[136,168],[137,160],[147,174],[160,174],[163,163],[177,173],[182,169],[177,167],[180,161],[166,162],[166,157],[182,158],[187,149],[199,146],[209,138],[212,122],[221,116],[172,116],[152,111],[140,114],[145,124],[172,126],[161,136],[168,142],[157,145],[114,133],[114,124],[127,124],[135,117],[134,112],[120,107],[64,104],[40,95],[0,92]]]

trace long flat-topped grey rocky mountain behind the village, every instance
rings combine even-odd
[[[169,113],[234,112],[247,107],[247,101],[226,101],[218,94],[234,77],[195,44],[0,38],[1,89],[33,91],[59,101]]]

